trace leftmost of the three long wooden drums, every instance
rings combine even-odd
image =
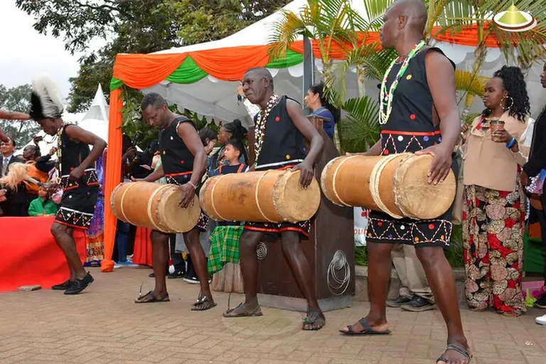
[[[188,208],[178,206],[182,193],[178,186],[152,182],[121,183],[112,192],[110,207],[119,220],[162,232],[188,232],[201,213],[194,197]]]

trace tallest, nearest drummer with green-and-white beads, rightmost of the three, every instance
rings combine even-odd
[[[384,16],[383,48],[400,54],[382,82],[381,139],[365,155],[432,154],[428,183],[441,183],[449,174],[451,154],[461,129],[456,103],[454,63],[423,41],[427,9],[421,0],[398,0]],[[434,196],[430,196],[433,198]],[[447,348],[439,364],[468,364],[471,355],[464,336],[453,270],[444,255],[451,237],[451,212],[435,220],[396,220],[373,211],[368,225],[368,284],[370,313],[341,330],[347,334],[390,333],[385,300],[390,279],[393,243],[413,244],[442,316]]]

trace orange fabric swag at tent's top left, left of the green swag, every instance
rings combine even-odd
[[[151,87],[171,75],[187,55],[188,53],[119,54],[114,63],[114,77],[136,89]]]

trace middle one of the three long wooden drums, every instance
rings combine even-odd
[[[308,220],[319,210],[321,191],[315,178],[301,188],[299,176],[300,171],[276,170],[215,176],[201,188],[201,208],[218,221]]]

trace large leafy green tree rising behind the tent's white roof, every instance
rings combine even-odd
[[[104,48],[80,59],[68,111],[82,112],[100,83],[107,93],[118,53],[153,53],[215,41],[272,14],[290,0],[16,0],[38,19],[39,33],[63,37],[72,53],[88,50],[93,38]],[[105,95],[106,97],[108,95]]]

